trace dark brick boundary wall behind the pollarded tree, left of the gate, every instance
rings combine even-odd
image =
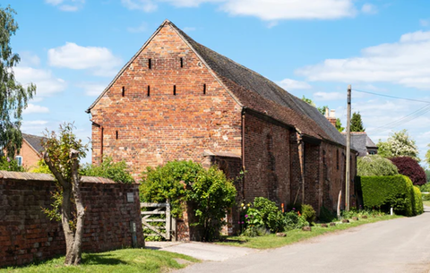
[[[61,223],[49,220],[41,209],[51,204],[53,191],[52,175],[0,171],[0,267],[65,254]],[[127,201],[127,193],[133,194],[133,202]],[[84,176],[82,200],[86,208],[83,252],[132,247],[132,221],[137,246],[144,247],[139,184]]]

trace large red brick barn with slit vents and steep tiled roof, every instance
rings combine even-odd
[[[340,191],[345,197],[345,137],[315,107],[170,21],[87,112],[92,163],[125,159],[135,178],[146,166],[191,159],[218,165],[232,178],[244,168],[238,200],[297,200],[318,212],[336,209]],[[351,155],[353,182],[356,152]]]

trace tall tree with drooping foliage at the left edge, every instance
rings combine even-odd
[[[11,47],[11,37],[18,30],[14,14],[10,6],[0,7],[0,153],[6,150],[11,158],[22,146],[22,110],[36,92],[35,85],[24,88],[13,74],[13,67],[21,60]]]

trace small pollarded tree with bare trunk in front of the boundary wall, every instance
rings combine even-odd
[[[86,145],[73,134],[73,124],[60,125],[59,135],[47,132],[42,143],[43,158],[61,194],[61,223],[65,237],[65,265],[78,265],[82,256],[82,233],[85,208],[81,195],[79,160],[85,157]]]

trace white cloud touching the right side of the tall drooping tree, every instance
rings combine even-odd
[[[63,79],[56,78],[45,69],[36,69],[29,66],[17,66],[13,68],[15,78],[23,86],[36,84],[36,95],[38,97],[49,97],[55,93],[63,91],[67,84]]]

